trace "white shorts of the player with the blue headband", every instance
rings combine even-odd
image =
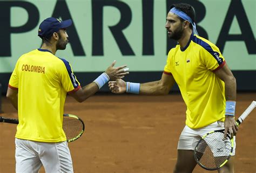
[[[178,149],[194,150],[194,147],[196,147],[198,141],[201,139],[202,136],[204,136],[208,132],[219,129],[224,129],[224,122],[216,121],[206,127],[197,129],[192,129],[188,126],[185,126],[179,136]],[[232,156],[235,155],[235,136],[233,138],[233,141],[234,147],[231,154]]]

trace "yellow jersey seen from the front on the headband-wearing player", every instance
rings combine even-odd
[[[184,48],[170,50],[164,73],[173,75],[179,86],[188,127],[225,120],[225,84],[213,73],[224,64],[219,48],[198,35],[192,34]]]

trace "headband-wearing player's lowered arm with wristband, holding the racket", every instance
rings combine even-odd
[[[234,120],[235,100],[237,98],[237,82],[227,64],[217,71],[214,71],[214,73],[225,83],[225,97],[227,102],[224,137],[226,138],[228,131],[231,134],[231,138],[233,138],[233,135],[238,131],[238,127]]]

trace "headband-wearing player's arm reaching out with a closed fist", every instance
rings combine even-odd
[[[113,93],[138,93],[140,95],[167,95],[175,80],[172,75],[164,74],[159,81],[147,83],[131,83],[123,80],[110,81],[109,88]]]

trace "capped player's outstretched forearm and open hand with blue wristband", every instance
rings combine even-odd
[[[84,100],[94,95],[105,83],[109,82],[109,80],[124,78],[125,75],[129,74],[127,69],[124,69],[126,66],[114,68],[114,64],[116,64],[116,61],[106,69],[105,73],[96,78],[95,81],[85,85],[83,88],[79,88],[75,92],[69,92],[69,95],[80,103],[84,102]]]

